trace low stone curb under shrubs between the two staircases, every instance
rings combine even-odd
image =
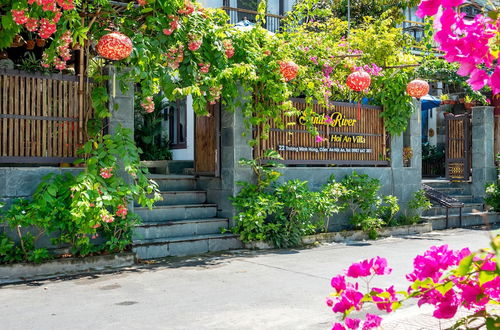
[[[386,227],[378,230],[379,237],[390,236],[405,236],[423,234],[432,231],[432,224],[430,222],[419,223],[416,225]],[[363,241],[368,240],[368,234],[362,230],[345,230],[340,232],[320,233],[315,235],[304,236],[302,243],[314,244],[318,243],[344,243],[348,241]],[[257,241],[244,244],[246,249],[273,249],[274,246],[267,242]]]

